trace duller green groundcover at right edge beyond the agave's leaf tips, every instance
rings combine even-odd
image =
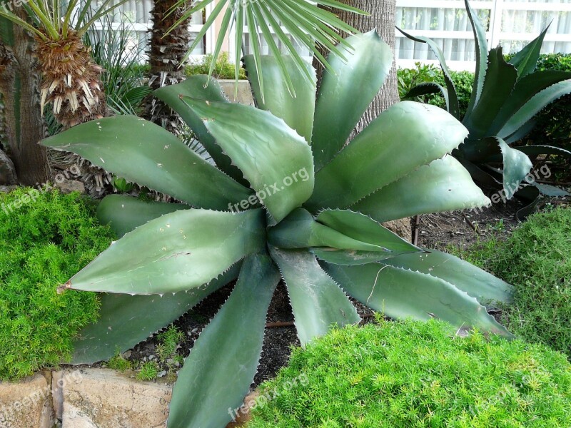
[[[449,250],[514,285],[514,303],[504,308],[510,331],[571,358],[570,208],[530,216],[505,241]]]

